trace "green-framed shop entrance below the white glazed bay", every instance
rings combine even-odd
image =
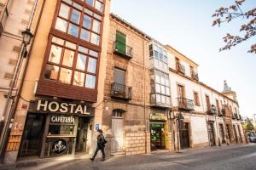
[[[150,122],[151,151],[166,149],[165,136],[164,122]]]

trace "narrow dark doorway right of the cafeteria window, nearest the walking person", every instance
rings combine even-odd
[[[79,117],[77,139],[76,139],[76,151],[86,152],[88,123],[89,123],[88,118]]]

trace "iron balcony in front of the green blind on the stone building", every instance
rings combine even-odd
[[[130,46],[126,45],[125,43],[115,41],[115,42],[113,42],[113,48],[114,48],[114,50],[113,50],[114,54],[119,54],[122,57],[125,57],[127,59],[132,58],[132,55],[133,55],[132,48]]]

